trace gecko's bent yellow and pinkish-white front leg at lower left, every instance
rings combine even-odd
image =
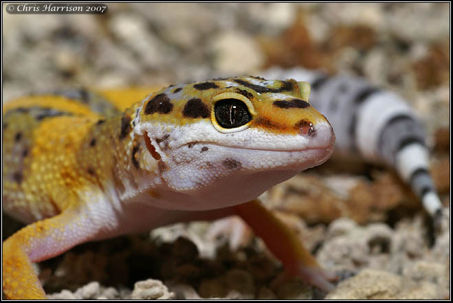
[[[98,216],[98,214],[96,214]],[[47,260],[102,235],[87,205],[72,205],[52,218],[36,221],[3,242],[3,293],[8,299],[46,299],[32,262]]]

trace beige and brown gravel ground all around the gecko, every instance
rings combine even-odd
[[[231,249],[228,237],[209,236],[209,223],[190,223],[87,243],[41,262],[51,298],[450,298],[449,3],[108,6],[104,15],[3,8],[3,100],[61,87],[259,75],[269,67],[362,76],[419,111],[447,207],[429,247],[426,218],[393,172],[329,161],[262,199],[342,277],[331,293],[298,280],[276,287],[281,266],[261,240],[245,237]],[[3,223],[3,238],[12,226]]]

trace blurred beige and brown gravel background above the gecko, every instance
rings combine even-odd
[[[449,125],[449,3],[107,5],[100,15],[3,9],[3,98],[305,67],[364,76]]]

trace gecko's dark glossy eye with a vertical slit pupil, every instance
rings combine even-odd
[[[237,99],[223,99],[216,102],[214,113],[217,123],[223,128],[236,128],[252,120],[247,105]]]

